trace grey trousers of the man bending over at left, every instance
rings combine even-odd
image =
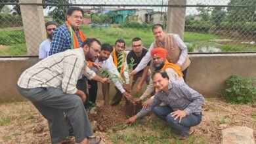
[[[18,92],[32,101],[43,117],[48,120],[53,143],[58,143],[69,135],[64,113],[68,115],[72,124],[77,143],[93,135],[83,101],[79,96],[66,94],[53,87],[20,88],[18,86]]]

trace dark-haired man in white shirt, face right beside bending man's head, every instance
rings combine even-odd
[[[119,72],[117,71],[116,66],[114,65],[113,58],[110,56],[110,54],[113,51],[113,46],[109,44],[103,44],[101,46],[100,56],[98,56],[98,59],[95,60],[94,64],[100,65],[102,69],[97,69],[96,67],[91,67],[95,73],[100,73],[104,69],[105,73],[108,71],[108,74],[111,75],[110,79],[112,82],[114,82],[116,88],[121,92],[122,96],[125,96],[127,99],[131,99],[131,95],[128,92],[125,92],[125,89],[123,88],[122,84],[123,81],[120,77]],[[96,96],[98,91],[98,84],[96,81],[89,80],[88,84],[91,85],[91,88],[89,88],[89,101],[92,103],[96,102]],[[105,95],[103,95],[104,103],[107,104],[110,98],[107,98]]]

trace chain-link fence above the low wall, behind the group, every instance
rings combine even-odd
[[[22,22],[22,5],[43,6],[45,22],[55,20],[58,26],[64,24],[68,7],[81,7],[85,13],[80,28],[87,37],[96,37],[112,45],[116,39],[124,39],[127,49],[133,37],[142,38],[148,48],[154,41],[152,24],[166,27],[168,9],[186,9],[184,42],[189,52],[256,52],[256,0],[187,0],[185,3],[170,5],[167,0],[43,0],[42,3],[0,0],[0,56],[30,55],[27,37],[33,37],[40,27],[26,33],[25,39],[24,20],[33,22],[36,16],[31,14],[31,18],[23,18]],[[177,16],[177,20],[180,18],[182,16]],[[37,26],[36,23],[32,25]],[[35,52],[38,49],[39,46],[33,47]]]

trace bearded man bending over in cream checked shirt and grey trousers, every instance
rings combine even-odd
[[[83,48],[66,50],[41,60],[26,69],[18,79],[18,91],[32,101],[49,122],[53,143],[63,143],[68,137],[64,113],[68,116],[77,143],[95,141],[83,101],[86,96],[76,88],[77,80],[85,75],[88,79],[106,82],[87,67],[87,60],[95,62],[100,54],[100,42],[87,39]]]

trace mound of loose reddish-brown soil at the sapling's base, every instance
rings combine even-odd
[[[93,111],[89,113],[89,119],[93,130],[99,130],[100,132],[106,132],[108,129],[116,130],[116,126],[121,126],[125,124],[127,118],[136,115],[140,109],[141,105],[102,105],[97,106]]]

